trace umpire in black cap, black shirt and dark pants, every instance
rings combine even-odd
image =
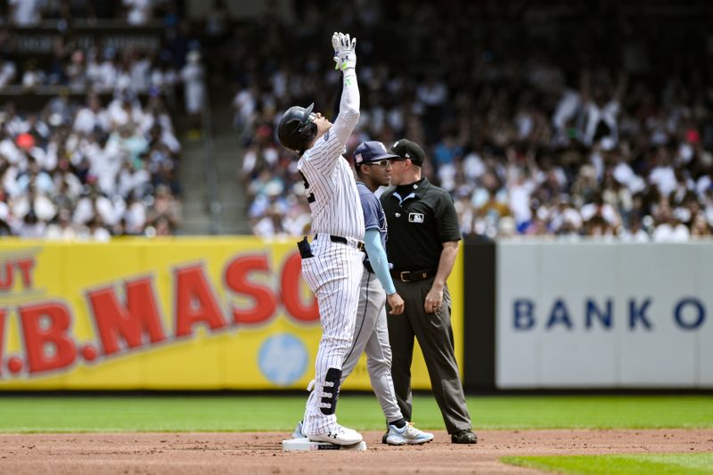
[[[401,139],[390,151],[391,184],[381,195],[389,226],[387,253],[391,275],[404,299],[402,315],[389,315],[393,353],[391,376],[401,412],[411,421],[411,361],[414,336],[421,345],[430,384],[446,429],[455,444],[476,444],[471,416],[455,362],[451,298],[446,285],[461,240],[450,195],[421,176],[422,148]]]

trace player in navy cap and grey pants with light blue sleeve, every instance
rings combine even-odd
[[[354,151],[356,188],[359,191],[365,221],[365,273],[359,288],[359,305],[356,308],[354,342],[342,365],[342,382],[354,370],[362,352],[366,353],[366,368],[372,381],[373,392],[379,399],[388,428],[383,439],[391,446],[421,445],[430,442],[433,434],[423,432],[406,422],[398,407],[394,383],[391,380],[391,347],[386,323],[386,302],[391,315],[404,312],[404,300],[398,295],[389,274],[386,257],[386,216],[381,201],[374,195],[380,186],[389,184],[391,162],[397,155],[386,152],[381,142],[361,143]],[[304,437],[299,423],[292,434]]]

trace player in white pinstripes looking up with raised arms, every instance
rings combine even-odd
[[[334,33],[335,69],[343,73],[340,112],[334,123],[307,108],[291,107],[277,129],[280,143],[299,152],[315,239],[299,242],[302,276],[315,293],[322,323],[315,362],[315,386],[307,398],[304,434],[313,441],[348,446],[362,441],[356,430],[337,423],[342,364],[352,346],[359,283],[364,274],[364,216],[356,182],[342,157],[359,120],[356,38]]]

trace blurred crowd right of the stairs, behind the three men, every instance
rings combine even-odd
[[[713,52],[696,20],[658,29],[657,19],[632,20],[606,2],[602,12],[586,2],[531,11],[459,1],[296,4],[299,29],[238,28],[223,52],[254,233],[307,229],[296,160],[275,125],[293,103],[332,111],[338,74],[325,72],[329,45],[312,38],[348,22],[362,92],[348,158],[365,140],[422,144],[424,174],[451,192],[463,235],[671,242],[711,234]],[[410,28],[393,29],[396,17]],[[617,26],[599,28],[602,18]]]

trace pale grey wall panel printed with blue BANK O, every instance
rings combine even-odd
[[[713,388],[713,243],[495,253],[496,388]]]

